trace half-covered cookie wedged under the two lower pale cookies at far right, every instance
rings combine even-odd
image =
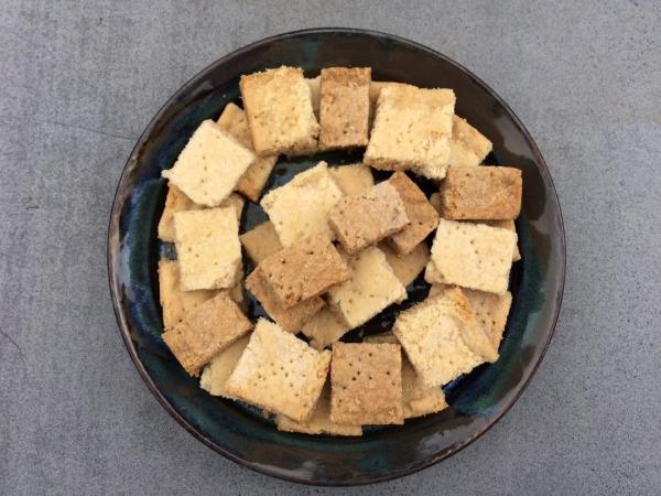
[[[445,284],[433,284],[430,289],[430,296],[446,289],[447,285]],[[494,294],[469,289],[463,291],[470,302],[470,306],[473,306],[478,325],[481,326],[495,348],[498,349],[512,305],[512,293],[508,291],[505,294]]]

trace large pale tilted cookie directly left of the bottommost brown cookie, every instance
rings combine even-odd
[[[297,422],[312,416],[319,398],[330,352],[318,353],[264,319],[227,379],[228,395]]]

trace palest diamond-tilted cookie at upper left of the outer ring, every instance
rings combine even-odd
[[[229,196],[254,160],[254,153],[208,119],[162,175],[196,204],[215,207]]]

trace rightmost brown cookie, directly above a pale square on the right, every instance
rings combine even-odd
[[[441,184],[441,215],[454,220],[513,220],[523,183],[513,168],[451,166]]]

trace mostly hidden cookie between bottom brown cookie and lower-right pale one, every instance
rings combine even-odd
[[[366,336],[364,342],[399,344],[399,339],[391,332]],[[404,419],[436,413],[447,408],[443,389],[424,386],[405,354],[402,356],[402,392]]]

